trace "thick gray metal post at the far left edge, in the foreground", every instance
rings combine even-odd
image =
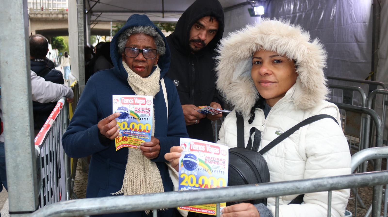
[[[11,217],[27,216],[38,206],[27,7],[27,0],[3,1],[0,7],[1,104]]]

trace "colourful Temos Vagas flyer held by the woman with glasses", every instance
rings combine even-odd
[[[113,95],[113,113],[120,132],[115,138],[116,151],[123,147],[137,148],[142,142],[151,141],[152,96]]]

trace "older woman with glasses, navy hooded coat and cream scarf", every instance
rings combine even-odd
[[[114,68],[88,80],[62,137],[64,150],[75,158],[92,155],[87,198],[172,191],[164,155],[188,135],[177,90],[165,77],[170,66],[166,38],[146,15],[132,15],[113,37],[111,58]],[[115,118],[120,113],[112,114],[112,95],[153,97],[151,142],[116,151]],[[104,216],[145,215],[143,211]],[[159,210],[158,216],[173,216],[173,209]]]

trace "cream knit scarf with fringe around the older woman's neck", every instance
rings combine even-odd
[[[153,96],[159,92],[160,69],[143,78],[133,72],[125,62],[123,66],[128,73],[128,84],[136,95]],[[154,109],[155,110],[155,109]],[[155,129],[155,112],[152,111],[152,131]],[[155,162],[145,157],[139,149],[128,148],[128,162],[126,163],[123,186],[115,194],[139,195],[164,192],[162,178]],[[146,210],[149,212],[149,210]]]

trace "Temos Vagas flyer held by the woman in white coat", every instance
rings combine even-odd
[[[229,155],[226,145],[191,138],[180,138],[183,149],[179,158],[179,190],[197,190],[226,187],[228,183]],[[220,211],[226,203],[220,204]],[[178,207],[180,210],[216,215],[213,204]]]

